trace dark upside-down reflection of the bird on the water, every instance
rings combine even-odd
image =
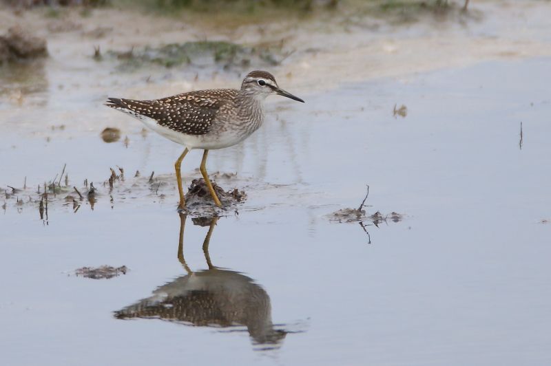
[[[192,271],[184,259],[183,241],[186,215],[180,213],[178,260],[187,275],[154,290],[153,295],[115,312],[117,319],[162,319],[205,327],[247,327],[251,341],[262,347],[278,347],[286,336],[271,321],[267,292],[253,279],[211,263],[209,241],[218,217],[194,219],[194,224],[209,226],[202,244],[207,270]]]

